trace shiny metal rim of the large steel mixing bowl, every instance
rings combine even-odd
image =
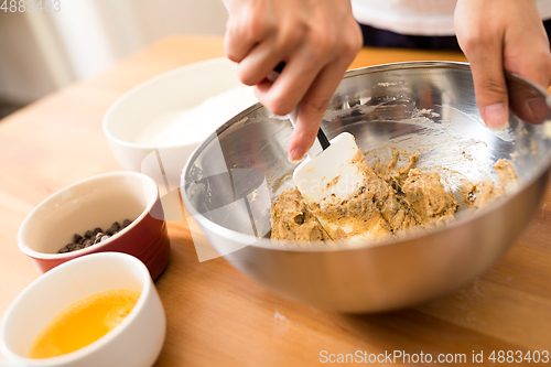
[[[401,63],[389,63],[389,64],[380,64],[380,65],[375,65],[375,66],[366,66],[366,67],[359,67],[359,68],[354,68],[350,71],[347,71],[343,79],[358,76],[358,75],[364,75],[364,74],[372,74],[372,73],[379,73],[379,72],[390,72],[390,71],[399,71],[399,69],[411,69],[411,68],[452,68],[452,69],[463,69],[463,71],[469,71],[471,72],[471,64],[465,63],[465,62],[447,62],[447,61],[413,61],[413,62],[401,62]],[[505,71],[506,76],[510,76],[512,78],[520,79],[521,82],[527,83],[531,87],[536,88],[538,91],[540,91],[543,96],[545,96],[545,104],[548,107],[551,109],[551,96],[548,94],[548,91],[537,85],[536,83],[508,71]],[[226,227],[223,227],[214,222],[208,220],[205,216],[203,216],[201,213],[198,213],[195,207],[192,205],[190,202],[187,194],[185,193],[184,186],[185,186],[185,173],[188,171],[188,166],[192,161],[194,161],[197,155],[199,154],[199,151],[208,144],[212,140],[216,139],[218,134],[224,132],[226,129],[228,129],[233,123],[246,118],[249,114],[256,111],[257,109],[262,108],[261,104],[256,104],[244,111],[241,111],[239,115],[236,115],[233,119],[228,120],[226,123],[220,126],[215,133],[210,134],[207,139],[205,139],[190,155],[187,159],[184,169],[182,170],[182,176],[181,176],[181,195],[182,195],[182,201],[186,207],[187,211],[190,211],[190,215],[193,216],[193,218],[202,226],[206,227],[213,233],[217,234],[220,237],[225,237],[235,241],[239,241],[241,244],[247,244],[246,246],[253,246],[258,248],[263,248],[263,249],[270,249],[270,250],[278,250],[278,251],[291,251],[291,252],[336,252],[336,251],[355,251],[355,250],[363,250],[366,248],[378,248],[382,246],[388,246],[388,245],[399,245],[404,241],[409,240],[415,240],[422,237],[431,237],[431,236],[436,236],[440,233],[463,226],[472,220],[476,220],[479,217],[489,215],[491,212],[495,209],[504,206],[507,202],[511,201],[514,197],[520,195],[523,190],[530,185],[532,185],[537,180],[539,180],[540,176],[542,176],[550,168],[551,168],[551,150],[545,154],[545,156],[538,163],[536,166],[533,174],[529,180],[526,180],[521,182],[518,186],[518,188],[512,193],[504,197],[503,199],[495,201],[490,203],[489,205],[485,206],[484,208],[476,211],[475,213],[471,215],[462,215],[458,216],[456,220],[454,220],[451,224],[447,224],[445,226],[435,228],[434,230],[431,230],[430,233],[424,233],[421,230],[414,230],[414,228],[403,237],[391,237],[388,239],[379,240],[379,241],[366,241],[363,245],[359,246],[350,246],[350,247],[320,247],[320,248],[298,248],[298,247],[285,247],[285,244],[294,244],[294,241],[272,241],[269,238],[258,238],[251,235],[238,233],[231,229],[228,229]],[[545,123],[545,121],[543,122]],[[337,242],[338,244],[338,242]]]

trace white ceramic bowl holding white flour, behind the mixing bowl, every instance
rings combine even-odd
[[[106,112],[102,125],[117,161],[126,170],[155,180],[161,196],[176,190],[187,158],[209,134],[197,132],[204,121],[197,121],[181,144],[161,147],[136,141],[163,114],[194,108],[209,97],[242,86],[236,67],[226,58],[186,65],[140,84],[120,97]]]

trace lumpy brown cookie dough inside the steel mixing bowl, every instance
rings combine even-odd
[[[399,153],[392,151],[388,164],[363,169],[368,184],[353,198],[342,203],[311,204],[296,188],[284,191],[272,206],[271,239],[291,241],[346,240],[361,235],[380,240],[408,228],[434,228],[454,220],[458,204],[446,192],[436,172],[414,169],[419,155],[397,168]],[[503,196],[516,184],[511,164],[499,160],[494,164],[500,183],[465,181],[460,192],[467,207],[479,208]],[[321,223],[329,223],[324,228]]]

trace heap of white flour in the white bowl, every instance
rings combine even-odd
[[[168,147],[205,140],[220,125],[258,102],[252,87],[237,87],[205,99],[191,109],[162,114],[143,129],[136,143]]]

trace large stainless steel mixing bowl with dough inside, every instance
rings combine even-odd
[[[419,150],[420,168],[457,190],[463,177],[495,179],[491,163],[510,160],[518,188],[451,225],[355,248],[272,242],[270,205],[292,187],[291,123],[261,105],[222,126],[190,158],[182,197],[210,244],[234,267],[289,299],[343,312],[379,312],[449,292],[488,269],[538,207],[551,162],[547,91],[507,74],[510,127],[482,122],[468,64],[415,62],[350,71],[323,129],[352,132],[361,151],[396,144]],[[521,117],[518,118],[517,116]],[[526,123],[529,121],[538,125]],[[369,158],[368,152],[368,158]]]

